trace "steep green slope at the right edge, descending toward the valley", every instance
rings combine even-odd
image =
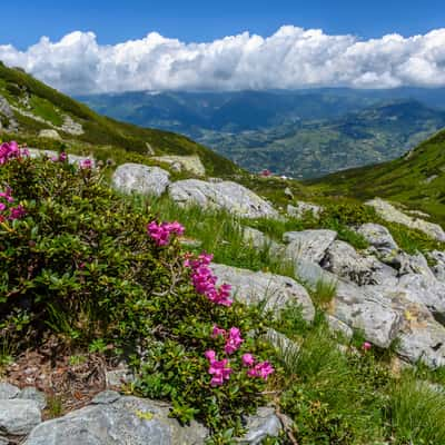
[[[394,161],[340,171],[307,184],[325,195],[388,198],[425,210],[444,224],[445,130]]]

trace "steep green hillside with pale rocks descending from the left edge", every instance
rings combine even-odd
[[[0,129],[29,145],[42,129],[56,129],[63,141],[92,150],[96,146],[123,149],[146,155],[149,147],[156,155],[198,155],[209,175],[234,175],[239,172],[233,162],[199,144],[172,132],[134,125],[100,116],[87,106],[58,92],[36,80],[20,69],[11,69],[0,62],[0,99],[9,103],[13,117],[1,112]],[[3,110],[4,111],[4,110]],[[11,126],[11,120],[17,126]],[[48,142],[48,141],[47,141]],[[39,146],[44,146],[40,140]],[[49,142],[48,142],[49,144]]]

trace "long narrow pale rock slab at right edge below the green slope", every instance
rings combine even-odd
[[[377,214],[387,221],[403,224],[412,229],[421,230],[438,241],[445,241],[445,231],[438,224],[425,221],[421,218],[413,218],[380,198],[365,204],[374,207]]]

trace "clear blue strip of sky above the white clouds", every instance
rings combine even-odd
[[[269,36],[283,24],[322,28],[360,38],[404,36],[445,27],[439,0],[14,0],[1,4],[0,43],[24,49],[41,36],[58,40],[93,31],[99,43],[137,39],[149,31],[182,41],[210,41],[250,31]]]

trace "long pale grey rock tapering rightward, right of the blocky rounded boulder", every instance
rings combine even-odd
[[[169,187],[169,195],[181,205],[226,209],[245,218],[278,218],[277,210],[269,202],[237,182],[186,179],[174,182]]]

